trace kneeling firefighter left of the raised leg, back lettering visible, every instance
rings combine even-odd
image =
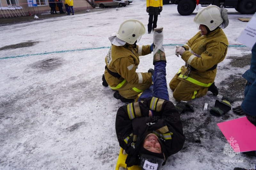
[[[136,45],[145,32],[146,29],[139,20],[127,19],[108,38],[112,45],[105,57],[106,67],[102,80],[103,83],[106,81],[105,86],[109,85],[116,91],[114,97],[125,103],[133,102],[138,94],[152,84],[153,73],[136,72],[140,63],[139,56],[153,51],[153,44]]]

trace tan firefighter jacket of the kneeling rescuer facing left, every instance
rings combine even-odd
[[[216,76],[217,69],[206,71],[224,60],[228,51],[228,39],[221,28],[201,36],[200,31],[183,46],[186,51],[181,58],[196,70],[181,67],[179,79],[197,87],[209,87]],[[187,72],[186,72],[187,71]]]

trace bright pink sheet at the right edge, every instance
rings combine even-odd
[[[217,123],[221,132],[235,150],[235,144],[240,152],[256,151],[256,126],[246,117]]]

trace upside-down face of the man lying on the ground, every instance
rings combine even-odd
[[[162,153],[161,145],[158,141],[158,137],[155,134],[150,134],[143,143],[143,148],[150,152]]]

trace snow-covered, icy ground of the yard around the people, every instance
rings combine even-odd
[[[193,18],[197,12],[181,16],[177,5],[163,6],[157,26],[164,27],[166,54],[196,34]],[[230,47],[226,59],[218,65],[215,83],[219,89],[230,75],[241,77],[249,68],[232,68],[228,59],[251,53],[251,48],[236,41],[247,24],[239,17],[252,15],[228,9],[229,26],[224,32]],[[31,47],[0,50],[0,169],[115,169],[120,150],[115,118],[124,103],[113,97],[109,87],[101,85],[101,77],[110,47],[108,36],[129,18],[139,19],[147,28],[146,1],[134,0],[118,11],[96,8],[74,16],[0,26],[0,48],[38,41]],[[153,34],[145,34],[138,45],[152,41]],[[152,54],[140,57],[137,72],[153,68],[152,60]],[[183,64],[176,55],[167,57],[167,83]],[[168,90],[170,100],[176,103]],[[243,92],[240,94],[243,98]],[[180,152],[169,157],[163,170],[255,167],[255,157],[240,153],[230,158],[223,154],[227,140],[216,125],[224,122],[223,117],[209,113],[222,95],[208,92],[190,102],[195,112],[181,115],[187,140]],[[209,104],[208,110],[203,110],[204,103]],[[240,117],[232,111],[227,115],[226,120]]]

